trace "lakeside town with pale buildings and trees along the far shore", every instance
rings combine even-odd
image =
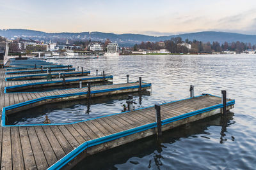
[[[8,55],[35,55],[42,52],[46,57],[50,56],[76,56],[76,55],[168,55],[168,54],[254,54],[256,46],[251,43],[232,42],[220,44],[218,41],[203,43],[202,41],[182,40],[180,37],[166,41],[141,42],[134,46],[118,46],[116,42],[72,41],[66,42],[35,41],[33,39],[17,38],[8,41],[0,37],[0,57],[3,55],[6,42],[8,42]]]

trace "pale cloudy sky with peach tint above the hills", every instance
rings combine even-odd
[[[0,0],[0,29],[154,36],[199,31],[256,34],[256,1]]]

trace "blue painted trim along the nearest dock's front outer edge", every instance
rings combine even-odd
[[[231,105],[231,104],[235,104],[235,101],[229,101],[227,103],[227,106],[228,105]],[[222,106],[220,106],[222,105]],[[217,108],[221,108],[223,107],[223,104],[217,104],[216,106],[211,106],[209,108],[204,108],[202,110],[198,110],[198,111],[192,111],[190,113],[186,113],[184,114],[184,116],[182,118],[188,118],[188,117],[191,117],[191,116],[194,116],[194,115],[198,115],[200,113],[204,113],[206,111],[211,111],[211,110],[215,110]],[[177,117],[174,117],[175,119],[172,120],[172,122],[175,122],[177,120],[180,120],[182,118],[180,118],[179,116]],[[169,120],[169,119],[167,119]],[[164,121],[164,120],[163,120]],[[162,122],[163,122],[162,121]],[[171,121],[166,121],[166,122],[163,122],[162,125],[164,124],[170,124]],[[156,122],[152,123],[152,124],[147,124],[147,125],[142,125],[140,127],[135,127],[133,129],[129,129],[127,131],[122,131],[122,132],[118,132],[116,134],[111,134],[109,136],[104,136],[102,138],[97,138],[97,139],[93,139],[91,141],[86,141],[84,142],[82,145],[79,145],[76,149],[72,150],[72,152],[68,153],[67,155],[65,155],[65,157],[61,158],[60,160],[58,160],[58,162],[56,162],[55,164],[53,164],[51,167],[49,167],[48,169],[51,170],[51,169],[61,169],[61,167],[65,166],[65,164],[67,164],[68,162],[70,162],[70,160],[74,159],[77,155],[79,155],[79,153],[83,152],[86,148],[89,148],[91,146],[95,146],[95,145],[100,145],[102,143],[106,143],[108,141],[113,141],[115,139],[118,139],[118,138],[122,138],[122,137],[125,137],[125,136],[129,136],[131,134],[135,134],[137,132],[142,132],[142,131],[147,131],[148,129],[152,129],[152,128],[155,128],[157,127],[157,124]]]

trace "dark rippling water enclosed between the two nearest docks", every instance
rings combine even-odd
[[[123,104],[126,104],[128,94],[132,94],[135,108],[143,108],[145,104],[143,104],[142,99],[147,99],[150,96],[149,91],[142,91],[141,93],[132,92],[114,96],[102,96],[92,98],[90,101],[88,99],[80,99],[64,103],[45,104],[44,106],[22,111],[19,114],[9,115],[6,123],[10,125],[42,124],[47,115],[51,120],[51,124],[63,124],[120,113],[124,109]]]

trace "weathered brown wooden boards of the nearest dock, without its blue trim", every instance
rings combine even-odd
[[[220,97],[202,96],[185,101],[164,104],[161,106],[162,120],[182,115],[190,111],[200,110],[209,106],[220,104]],[[227,110],[231,107],[228,106]],[[163,130],[177,127],[204,117],[220,113],[220,109],[204,113],[200,116],[186,118],[164,125]],[[122,132],[141,125],[156,121],[154,108],[145,108],[120,115],[97,118],[72,125],[47,125],[35,127],[1,127],[0,138],[3,145],[1,152],[2,169],[45,169],[85,141]],[[152,134],[156,129],[133,134],[128,137],[116,139],[104,145],[88,148],[87,155],[101,152],[124,143],[134,141]],[[15,154],[15,157],[12,155]]]

